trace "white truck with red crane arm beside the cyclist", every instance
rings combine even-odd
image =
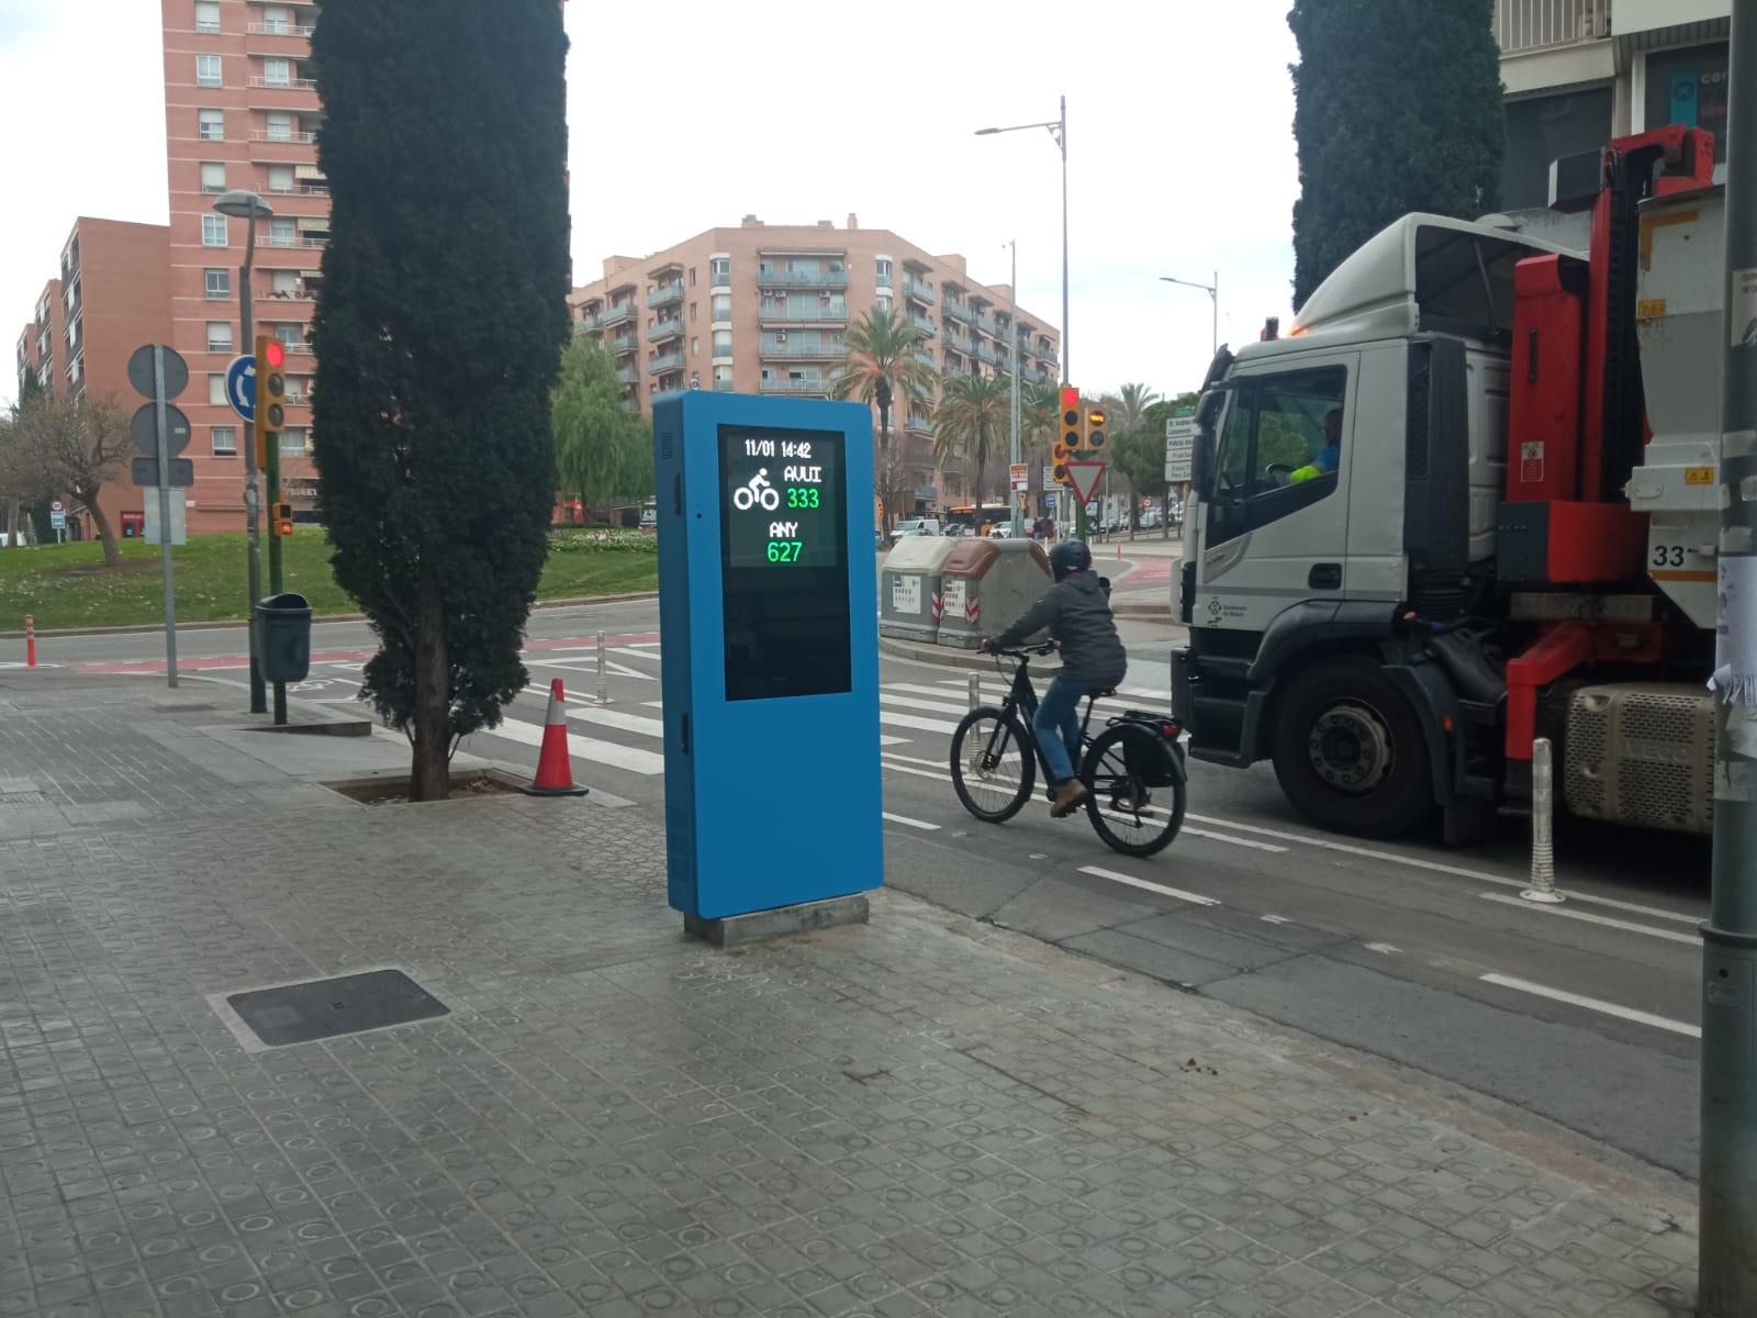
[[[1327,828],[1437,812],[1457,844],[1529,798],[1546,736],[1573,814],[1708,829],[1711,148],[1673,127],[1558,162],[1541,223],[1406,216],[1286,337],[1219,350],[1174,587],[1197,759],[1272,761]]]

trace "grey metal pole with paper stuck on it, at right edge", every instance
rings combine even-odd
[[[1703,924],[1703,1318],[1757,1313],[1757,0],[1732,0],[1715,652],[1715,859]]]

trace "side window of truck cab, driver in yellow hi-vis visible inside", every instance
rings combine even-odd
[[[1341,366],[1239,383],[1219,438],[1214,543],[1305,508],[1337,487],[1346,390]]]

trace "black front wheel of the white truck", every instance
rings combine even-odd
[[[1432,815],[1421,724],[1372,659],[1320,659],[1290,678],[1274,722],[1276,778],[1314,822],[1390,838]]]

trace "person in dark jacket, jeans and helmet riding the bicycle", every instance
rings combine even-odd
[[[1063,540],[1049,550],[1049,569],[1056,583],[1024,617],[984,641],[982,648],[1010,650],[1045,627],[1061,647],[1061,673],[1049,684],[1031,715],[1031,731],[1037,733],[1049,766],[1049,787],[1054,793],[1049,814],[1063,819],[1088,796],[1086,784],[1074,775],[1074,761],[1081,754],[1081,699],[1121,682],[1128,670],[1128,652],[1116,634],[1107,583],[1093,571],[1086,543]]]

